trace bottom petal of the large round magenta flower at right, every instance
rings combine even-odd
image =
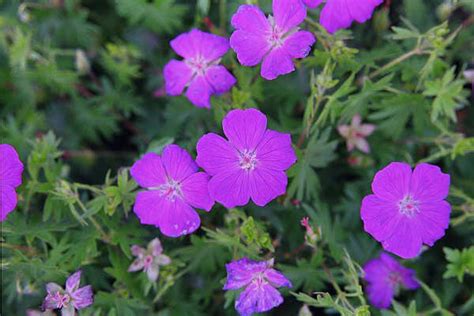
[[[393,234],[382,241],[385,250],[404,259],[411,259],[420,254],[422,240],[417,225],[411,219],[402,219],[398,222]]]

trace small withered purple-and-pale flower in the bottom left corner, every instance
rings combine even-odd
[[[81,271],[70,275],[66,280],[66,290],[56,283],[46,284],[48,295],[43,302],[43,310],[61,309],[61,315],[74,316],[75,310],[86,308],[93,303],[92,287],[79,288]]]

